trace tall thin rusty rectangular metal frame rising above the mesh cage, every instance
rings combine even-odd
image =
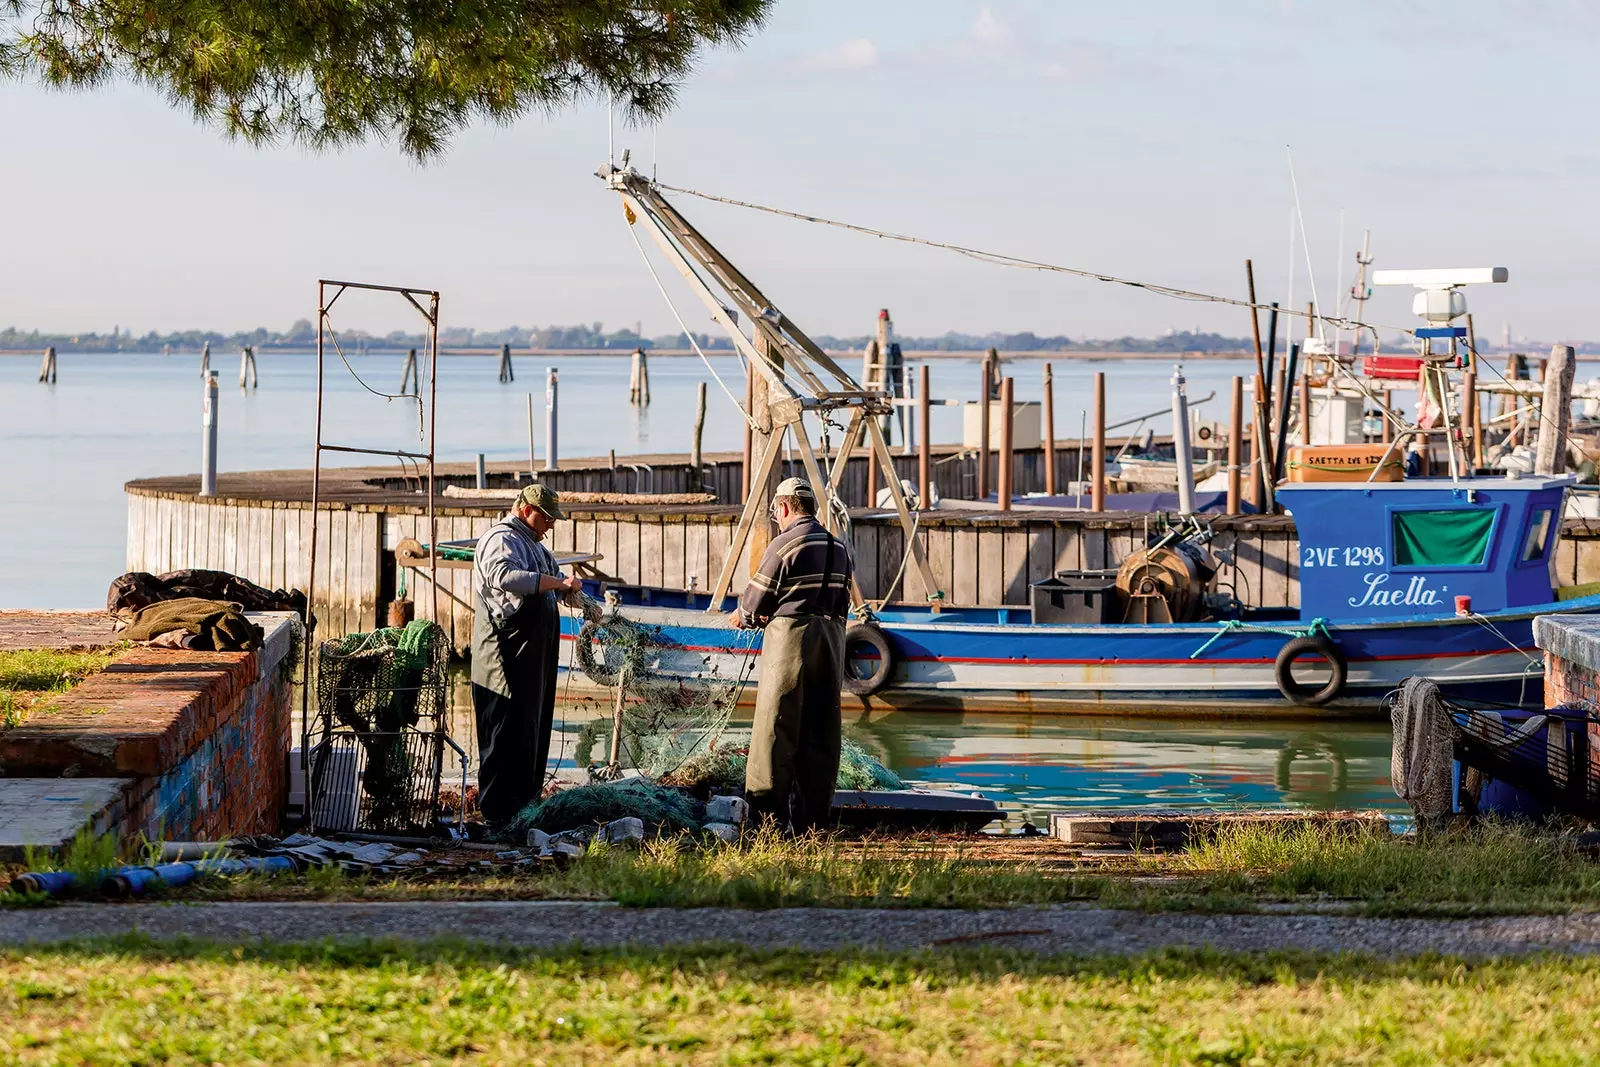
[[[333,290],[333,296],[328,291]],[[411,307],[414,307],[422,320],[427,323],[427,339],[424,342],[422,358],[427,362],[427,400],[424,402],[421,395],[403,395],[405,400],[413,400],[418,405],[419,424],[426,427],[427,451],[413,453],[405,450],[378,450],[378,448],[355,448],[350,445],[331,445],[322,437],[322,416],[323,416],[323,398],[326,394],[326,376],[325,376],[325,357],[326,357],[326,341],[333,341],[334,352],[344,360],[344,349],[339,347],[339,339],[334,336],[330,326],[328,314],[333,306],[339,301],[347,290],[363,290],[370,293],[398,293],[405,298]],[[418,302],[418,298],[426,298],[427,307]],[[349,363],[346,363],[349,366]],[[354,370],[350,371],[355,373]],[[366,386],[365,382],[362,382]],[[368,389],[371,389],[368,386]],[[376,390],[374,390],[376,392]],[[389,394],[379,394],[389,395]],[[402,398],[402,397],[395,397]],[[309,566],[306,573],[306,613],[315,617],[317,603],[317,528],[318,520],[318,504],[322,502],[322,454],[323,453],[347,453],[357,456],[392,456],[400,461],[402,469],[406,461],[414,467],[419,467],[422,461],[427,462],[427,555],[429,555],[429,585],[432,587],[434,611],[432,619],[438,622],[438,555],[435,545],[438,544],[438,517],[437,517],[437,491],[434,483],[434,456],[435,456],[435,438],[437,438],[437,414],[438,414],[438,290],[424,290],[418,286],[400,286],[400,285],[374,285],[370,282],[339,282],[331,278],[317,280],[317,432],[315,432],[315,448],[312,454],[312,472],[310,472],[310,550],[309,550]],[[419,472],[421,474],[421,472]],[[306,638],[301,656],[301,769],[304,771],[306,782],[306,821],[310,824],[312,817],[312,781],[310,781],[310,693],[312,693],[312,653],[315,651],[317,627],[314,622],[307,621]]]

